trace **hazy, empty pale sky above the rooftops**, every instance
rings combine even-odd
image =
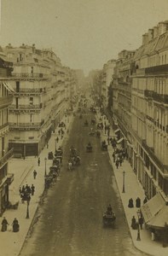
[[[63,65],[102,68],[168,20],[168,0],[1,0],[0,44],[52,48]]]

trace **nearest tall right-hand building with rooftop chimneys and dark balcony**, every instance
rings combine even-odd
[[[133,166],[148,198],[168,195],[168,21],[142,36],[132,75]]]

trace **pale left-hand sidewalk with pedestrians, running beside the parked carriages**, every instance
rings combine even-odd
[[[72,116],[65,117],[61,120],[63,121],[67,129],[71,129]],[[52,160],[48,160],[49,151],[55,152],[55,138],[58,136],[57,127],[55,133],[53,133],[49,139],[49,147],[43,148],[43,151],[39,154],[41,163],[38,166],[38,158],[30,157],[26,160],[11,159],[9,160],[9,172],[14,173],[14,181],[9,186],[9,201],[15,203],[19,201],[19,207],[17,210],[9,209],[3,213],[3,217],[9,222],[8,230],[6,232],[0,231],[0,256],[17,256],[20,253],[20,249],[26,239],[26,235],[34,215],[38,209],[38,203],[41,201],[44,190],[44,174],[45,174],[45,157],[47,158],[46,170],[49,172],[49,166],[52,166]],[[57,148],[61,146],[64,139],[67,137],[67,129],[64,130],[65,134],[63,139],[59,137],[59,142],[56,144]],[[36,179],[33,178],[33,171],[38,172]],[[29,218],[26,218],[27,204],[21,203],[19,189],[22,185],[32,185],[35,186],[35,193],[31,196],[31,201],[29,205]],[[3,217],[0,217],[0,223],[2,223]],[[20,224],[20,231],[14,233],[12,231],[12,222],[14,218],[17,218]]]

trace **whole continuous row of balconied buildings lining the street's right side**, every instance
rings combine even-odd
[[[168,21],[136,51],[121,51],[113,74],[113,124],[148,196],[168,201]]]

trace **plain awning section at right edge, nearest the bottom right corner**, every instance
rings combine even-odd
[[[168,206],[164,206],[161,210],[148,221],[148,226],[155,229],[162,229],[165,227],[165,223],[168,224]]]

